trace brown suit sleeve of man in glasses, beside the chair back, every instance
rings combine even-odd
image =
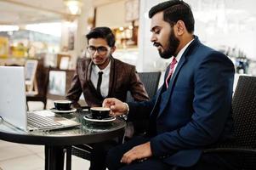
[[[149,96],[145,91],[143,83],[139,79],[139,75],[133,66],[130,71],[130,86],[129,90],[134,98],[134,101],[149,100]]]

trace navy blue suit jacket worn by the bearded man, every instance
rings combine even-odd
[[[154,99],[129,103],[128,119],[150,118],[153,156],[191,167],[202,150],[232,134],[234,65],[197,37],[182,55],[169,82]],[[167,77],[168,69],[165,77]]]

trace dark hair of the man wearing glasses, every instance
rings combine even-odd
[[[109,27],[95,27],[86,35],[88,41],[91,38],[104,38],[110,47],[115,46],[115,36]]]

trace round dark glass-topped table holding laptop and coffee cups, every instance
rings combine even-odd
[[[45,145],[45,169],[54,170],[58,167],[58,148],[65,148],[66,169],[71,169],[71,146],[76,144],[98,143],[108,139],[119,138],[122,141],[126,122],[117,117],[112,122],[91,122],[83,116],[88,111],[77,111],[71,114],[55,114],[80,122],[77,127],[59,130],[26,132],[14,127],[3,119],[0,121],[0,139],[20,144]]]

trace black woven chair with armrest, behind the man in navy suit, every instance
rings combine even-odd
[[[235,140],[217,144],[204,152],[231,154],[236,157],[236,169],[256,167],[256,77],[240,76],[232,99]]]

